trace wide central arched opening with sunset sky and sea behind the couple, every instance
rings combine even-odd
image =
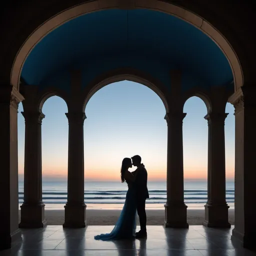
[[[157,218],[162,223],[163,204],[166,202],[167,125],[164,120],[165,108],[158,95],[137,82],[113,82],[101,87],[90,97],[85,113],[84,173],[87,209],[122,208],[127,185],[121,183],[120,164],[124,157],[139,154],[148,172],[151,199],[147,200],[147,214],[152,215],[150,209],[160,205],[162,214]],[[135,168],[132,167],[131,170]],[[104,194],[99,198],[95,195],[99,191],[93,187]],[[93,195],[88,194],[91,191]],[[95,223],[90,212],[87,211],[86,214],[88,221]],[[114,224],[111,221],[108,224]]]

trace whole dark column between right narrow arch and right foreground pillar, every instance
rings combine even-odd
[[[208,198],[204,205],[208,227],[230,227],[225,188],[225,135],[224,121],[227,113],[211,112],[208,121]]]

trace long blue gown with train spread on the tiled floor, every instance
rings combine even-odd
[[[96,240],[118,240],[134,237],[136,230],[136,197],[135,188],[130,187],[126,193],[125,202],[120,216],[110,233],[94,236]]]

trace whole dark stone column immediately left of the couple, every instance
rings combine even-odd
[[[68,119],[68,177],[63,227],[85,227],[84,153],[82,112],[66,113]]]

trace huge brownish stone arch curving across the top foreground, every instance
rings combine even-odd
[[[229,42],[218,32],[210,23],[208,23],[203,18],[198,15],[171,3],[163,2],[161,0],[152,0],[152,1],[141,1],[141,0],[127,0],[127,1],[107,1],[107,0],[95,0],[86,2],[67,10],[62,11],[59,14],[56,14],[54,17],[47,20],[45,23],[41,24],[23,43],[18,53],[16,54],[15,60],[12,65],[12,70],[10,74],[10,83],[18,88],[19,79],[22,70],[23,63],[33,49],[33,47],[49,32],[51,32],[56,27],[64,24],[65,22],[76,18],[80,15],[109,9],[109,8],[125,8],[125,9],[134,9],[134,8],[148,8],[155,11],[162,11],[170,15],[175,15],[196,28],[203,31],[207,36],[209,36],[222,50],[222,52],[227,57],[234,79],[234,86],[238,89],[243,84],[243,74],[239,60],[232,49]]]

